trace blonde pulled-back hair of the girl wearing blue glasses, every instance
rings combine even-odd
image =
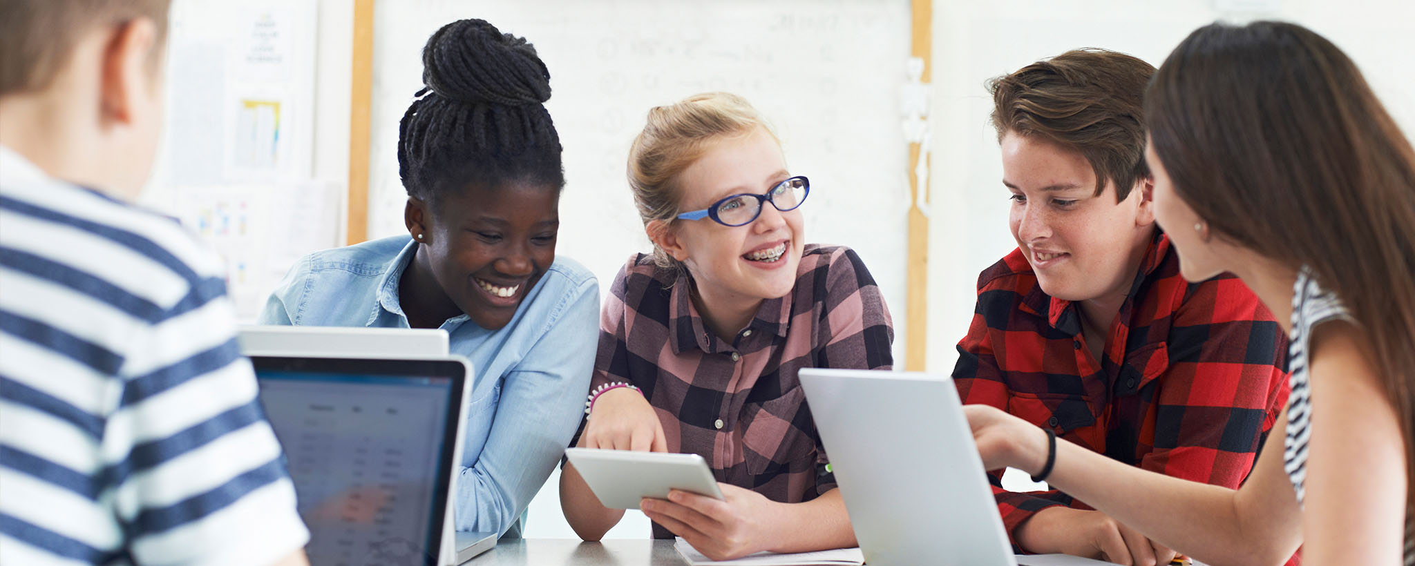
[[[775,137],[767,122],[741,96],[705,92],[648,110],[648,123],[628,150],[628,187],[644,225],[678,218],[678,177],[716,142],[746,137],[758,129]],[[682,269],[654,243],[654,263]]]

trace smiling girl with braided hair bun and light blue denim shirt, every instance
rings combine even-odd
[[[260,317],[447,331],[477,372],[458,531],[519,535],[589,388],[599,283],[555,255],[565,171],[549,79],[535,47],[487,21],[437,30],[399,123],[409,235],[304,258]]]

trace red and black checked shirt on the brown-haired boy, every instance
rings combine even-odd
[[[958,342],[964,403],[985,403],[1131,466],[1238,488],[1288,402],[1286,337],[1234,276],[1187,283],[1156,233],[1097,362],[1080,306],[1047,296],[1020,250],[978,277]],[[993,492],[1012,536],[1058,491]],[[1016,541],[1016,538],[1013,538]]]

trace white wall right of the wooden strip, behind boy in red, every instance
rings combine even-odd
[[[1268,6],[1238,13],[1224,4]],[[968,331],[978,273],[1016,248],[992,100],[983,82],[1078,47],[1129,52],[1159,67],[1190,31],[1214,20],[1276,18],[1326,35],[1365,72],[1405,129],[1415,132],[1415,6],[1356,1],[935,1],[932,69],[934,218],[928,265],[928,369],[951,372]]]

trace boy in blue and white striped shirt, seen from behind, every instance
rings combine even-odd
[[[0,0],[3,565],[306,563],[221,263],[125,202],[167,10]]]

